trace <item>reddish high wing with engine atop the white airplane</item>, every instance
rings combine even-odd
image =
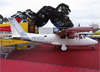
[[[70,37],[77,37],[79,36],[79,32],[89,32],[93,30],[94,30],[93,27],[75,27],[75,28],[65,29],[57,34],[60,36],[66,35]]]

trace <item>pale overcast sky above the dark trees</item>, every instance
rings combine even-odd
[[[100,0],[0,0],[0,14],[10,17],[17,11],[31,9],[37,12],[45,5],[57,7],[60,3],[70,7],[69,17],[75,26],[94,23],[100,27]]]

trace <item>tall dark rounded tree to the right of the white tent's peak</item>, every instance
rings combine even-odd
[[[52,22],[59,24],[59,29],[67,29],[70,27],[73,27],[73,23],[71,22],[70,18],[69,18],[69,13],[71,12],[71,10],[69,9],[69,6],[61,3],[56,7],[57,10],[57,17],[55,17]]]

